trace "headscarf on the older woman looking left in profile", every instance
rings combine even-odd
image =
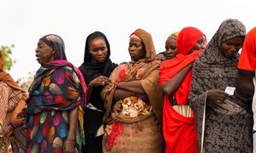
[[[64,59],[67,60],[65,54],[65,45],[61,37],[55,34],[45,35],[39,39],[40,41],[45,42],[49,47],[55,48],[55,60]]]

